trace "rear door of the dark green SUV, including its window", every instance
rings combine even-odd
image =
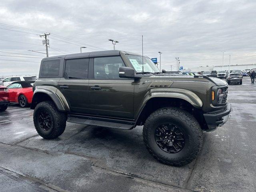
[[[89,58],[65,60],[64,77],[60,78],[58,89],[66,98],[71,113],[87,114]]]

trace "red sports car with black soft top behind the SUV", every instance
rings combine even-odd
[[[26,107],[32,102],[35,81],[16,81],[8,85],[9,99],[11,103],[18,103],[21,107]]]

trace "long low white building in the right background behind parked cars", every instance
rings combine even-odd
[[[256,64],[250,64],[250,65],[224,65],[223,70],[246,70],[246,69],[256,69]],[[188,67],[187,70],[183,70],[183,71],[195,71],[195,72],[200,72],[200,71],[212,71],[212,70],[216,70],[216,71],[221,71],[222,70],[222,66],[206,66],[206,67]]]

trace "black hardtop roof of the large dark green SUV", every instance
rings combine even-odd
[[[93,51],[93,52],[85,52],[85,53],[74,53],[74,54],[67,54],[67,55],[59,55],[59,56],[52,56],[52,57],[46,57],[43,58],[43,60],[46,59],[56,59],[56,58],[80,58],[80,57],[102,57],[102,56],[116,56],[120,55],[120,52],[124,52],[126,54],[134,54],[134,55],[139,55],[136,53],[132,52],[127,52],[127,51],[120,51],[120,50],[106,50],[106,51]]]

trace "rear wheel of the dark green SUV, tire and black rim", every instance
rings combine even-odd
[[[54,102],[43,101],[34,109],[33,120],[36,131],[41,137],[54,139],[64,132],[67,116],[56,108]]]

